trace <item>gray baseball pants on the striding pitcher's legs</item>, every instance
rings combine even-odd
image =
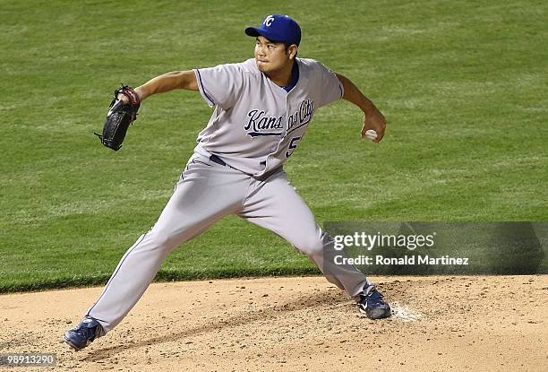
[[[334,240],[315,222],[283,169],[259,180],[194,153],[158,221],[127,250],[86,315],[98,320],[103,335],[112,330],[141,298],[172,250],[229,214],[285,238],[352,297],[369,283],[354,265],[324,260],[326,253],[335,252]]]

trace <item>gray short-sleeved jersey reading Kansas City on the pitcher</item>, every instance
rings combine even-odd
[[[194,70],[201,96],[215,106],[195,151],[218,155],[244,173],[261,177],[295,151],[314,111],[343,96],[335,73],[313,59],[296,58],[299,80],[287,92],[257,68],[240,64]]]

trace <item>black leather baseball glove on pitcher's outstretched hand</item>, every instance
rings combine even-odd
[[[118,94],[120,93],[129,99],[129,103],[118,99]],[[127,128],[137,118],[137,111],[139,111],[140,105],[141,100],[132,88],[122,85],[116,89],[115,97],[110,102],[107,120],[105,121],[105,125],[103,125],[103,134],[96,133],[101,143],[114,151],[120,150]]]

